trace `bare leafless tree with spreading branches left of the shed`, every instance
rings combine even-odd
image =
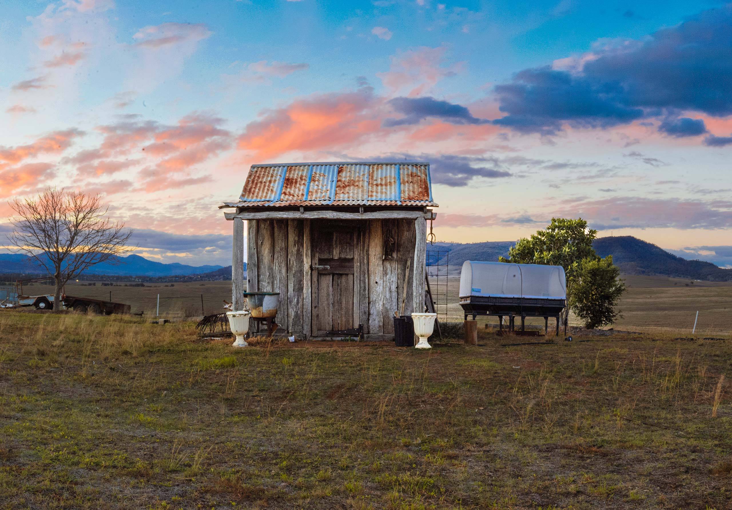
[[[124,223],[106,218],[108,207],[98,194],[48,188],[37,197],[14,199],[10,207],[15,216],[8,239],[53,276],[53,310],[61,309],[67,281],[121,254],[132,235]]]

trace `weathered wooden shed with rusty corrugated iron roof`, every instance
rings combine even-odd
[[[318,338],[359,328],[392,339],[394,312],[425,311],[429,163],[253,165],[234,209],[232,300],[280,292],[277,324]],[[408,270],[408,275],[406,274]],[[406,285],[405,285],[406,282]]]

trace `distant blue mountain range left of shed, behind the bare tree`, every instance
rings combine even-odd
[[[154,262],[139,255],[115,257],[111,262],[92,266],[86,273],[117,276],[187,276],[210,273],[221,269],[220,265],[190,266],[173,262]],[[231,271],[231,269],[230,269]],[[42,273],[46,271],[29,256],[0,254],[0,273]]]

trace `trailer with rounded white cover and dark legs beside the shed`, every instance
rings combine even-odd
[[[466,320],[469,315],[474,320],[478,315],[498,317],[499,330],[503,330],[504,317],[508,317],[511,331],[515,329],[515,317],[521,318],[522,331],[526,317],[544,317],[548,332],[549,317],[556,317],[559,335],[561,311],[567,306],[564,268],[466,261],[460,273],[460,306]]]

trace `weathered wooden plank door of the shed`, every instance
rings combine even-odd
[[[354,252],[359,226],[313,221],[310,232],[313,246],[313,335],[356,328]]]

